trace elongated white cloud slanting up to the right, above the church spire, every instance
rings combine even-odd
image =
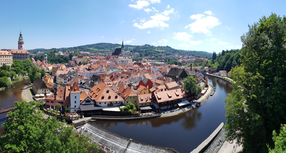
[[[141,23],[134,23],[133,26],[137,27],[139,29],[145,29],[145,28],[154,28],[154,27],[159,27],[161,29],[165,27],[169,27],[169,24],[165,23],[164,21],[170,20],[170,17],[168,16],[169,14],[173,13],[174,9],[170,10],[165,10],[161,14],[156,13],[153,16],[150,16],[151,20],[144,21],[141,20]]]

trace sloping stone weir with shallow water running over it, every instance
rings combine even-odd
[[[84,131],[86,135],[90,136],[92,140],[104,144],[108,148],[122,153],[175,153],[173,149],[168,149],[160,146],[154,146],[150,144],[144,144],[132,139],[124,138],[117,134],[111,133],[107,130],[104,130],[98,126],[93,125],[88,122],[84,125],[85,128],[88,128],[88,131]]]

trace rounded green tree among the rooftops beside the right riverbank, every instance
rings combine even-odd
[[[197,85],[197,80],[194,76],[188,76],[182,80],[183,88],[186,89],[189,93],[197,95],[201,92],[201,87]]]

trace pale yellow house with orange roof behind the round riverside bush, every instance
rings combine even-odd
[[[122,85],[119,88],[118,93],[124,99],[124,105],[128,105],[128,103],[133,103],[136,107],[138,106],[138,96],[130,88],[126,87],[125,85]]]

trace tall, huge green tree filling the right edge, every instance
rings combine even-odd
[[[237,139],[244,152],[268,152],[272,131],[286,122],[285,31],[286,17],[272,13],[241,36],[242,64],[231,71],[236,83],[224,101],[226,138]]]

